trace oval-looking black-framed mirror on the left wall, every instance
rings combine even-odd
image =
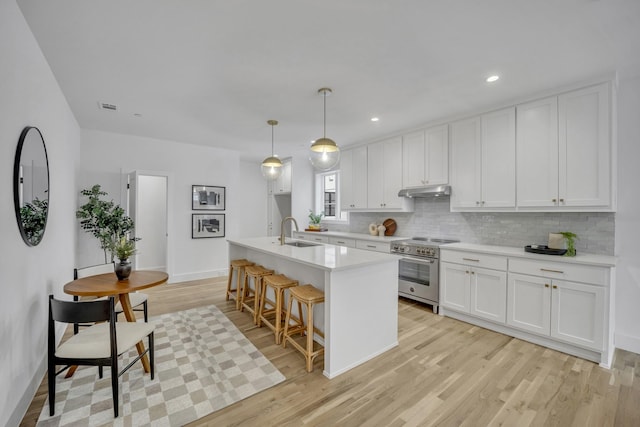
[[[36,246],[44,236],[49,213],[49,161],[42,134],[26,127],[13,164],[13,202],[22,239]]]

